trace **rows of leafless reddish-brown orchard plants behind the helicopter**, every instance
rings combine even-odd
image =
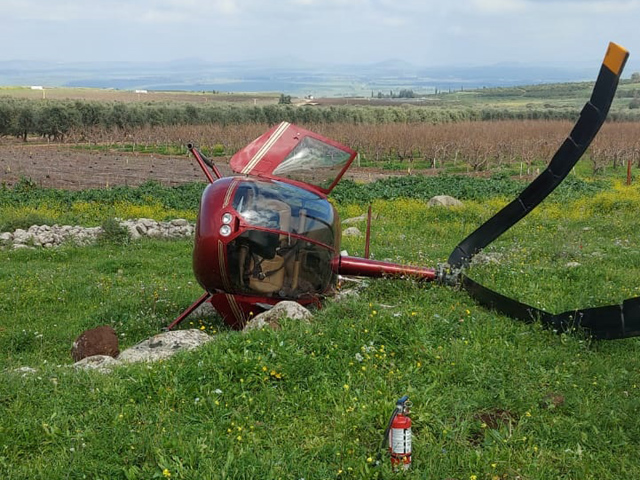
[[[354,148],[365,165],[416,163],[432,168],[466,165],[474,171],[518,162],[547,162],[571,131],[568,121],[493,121],[446,124],[320,123],[305,127]],[[268,124],[141,127],[72,132],[69,140],[131,151],[185,152],[195,143],[214,156],[230,156],[264,133]],[[176,148],[178,147],[178,148]],[[594,173],[627,162],[640,167],[640,123],[606,123],[587,156]]]

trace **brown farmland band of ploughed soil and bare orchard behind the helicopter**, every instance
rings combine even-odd
[[[371,181],[397,175],[500,172],[532,178],[547,164],[571,130],[566,121],[490,121],[446,124],[311,124],[308,128],[360,152],[346,178]],[[143,127],[70,134],[64,143],[0,139],[0,183],[28,178],[43,187],[101,188],[201,181],[190,158],[193,142],[215,157],[223,173],[233,153],[268,124]],[[640,164],[640,122],[604,125],[577,169],[582,175],[624,176]]]

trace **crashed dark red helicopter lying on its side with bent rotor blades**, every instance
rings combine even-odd
[[[205,301],[225,323],[242,328],[282,300],[318,304],[334,293],[338,275],[357,275],[410,276],[457,285],[489,308],[558,331],[582,327],[599,338],[640,335],[640,297],[556,315],[504,297],[464,274],[478,251],[527,215],[570,172],[604,123],[627,58],[624,48],[609,45],[592,96],[548,167],[438,268],[340,254],[340,220],[327,195],[356,158],[349,147],[282,122],[238,151],[230,161],[238,175],[223,177],[189,145],[210,182],[200,202],[193,251],[193,270],[205,293],[167,328]]]

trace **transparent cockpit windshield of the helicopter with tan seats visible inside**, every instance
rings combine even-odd
[[[231,205],[244,224],[227,244],[235,291],[296,299],[329,288],[340,232],[326,198],[284,182],[247,179]]]

